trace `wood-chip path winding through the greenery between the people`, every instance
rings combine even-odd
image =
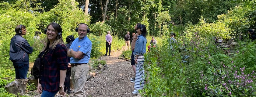
[[[130,78],[135,76],[131,61],[118,59],[121,51],[111,53],[111,56],[102,56],[106,60],[108,69],[92,77],[86,82],[87,97],[135,97],[132,94],[134,83]]]

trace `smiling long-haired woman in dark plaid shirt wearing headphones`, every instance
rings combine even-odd
[[[47,43],[40,52],[40,76],[37,90],[41,97],[54,97],[59,92],[65,95],[64,82],[68,69],[67,47],[62,40],[62,28],[53,22],[44,30]]]

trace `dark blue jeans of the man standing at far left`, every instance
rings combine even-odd
[[[13,63],[16,79],[27,79],[29,64]]]

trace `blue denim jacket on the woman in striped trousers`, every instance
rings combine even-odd
[[[147,39],[143,37],[142,35],[138,36],[138,39],[135,43],[135,48],[134,48],[134,55],[143,55],[146,53],[146,44],[147,44]]]

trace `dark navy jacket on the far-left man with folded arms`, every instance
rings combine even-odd
[[[33,48],[30,47],[28,41],[16,34],[11,39],[9,55],[13,63],[29,64],[28,54],[33,52]]]

